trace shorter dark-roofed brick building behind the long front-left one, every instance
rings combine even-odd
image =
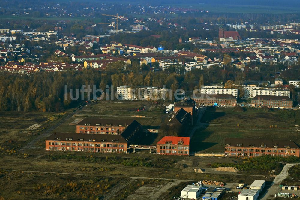
[[[135,120],[106,120],[98,118],[87,118],[76,125],[76,133],[86,134],[120,134]]]

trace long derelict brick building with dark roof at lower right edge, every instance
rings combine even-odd
[[[264,155],[299,157],[300,148],[290,140],[225,138],[225,156],[253,157]]]

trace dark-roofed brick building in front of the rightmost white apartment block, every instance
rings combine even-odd
[[[287,96],[262,96],[257,95],[251,99],[255,107],[268,106],[271,108],[293,108],[293,101]]]

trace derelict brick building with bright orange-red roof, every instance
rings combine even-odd
[[[190,138],[165,136],[156,144],[156,153],[188,156],[190,154]]]

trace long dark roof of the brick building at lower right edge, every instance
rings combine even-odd
[[[262,139],[242,139],[242,138],[225,138],[225,146],[230,145],[231,147],[261,147],[266,148],[294,148],[299,149],[298,145],[291,140],[262,140]],[[242,145],[242,146],[238,146]],[[275,146],[275,147],[273,147]]]

